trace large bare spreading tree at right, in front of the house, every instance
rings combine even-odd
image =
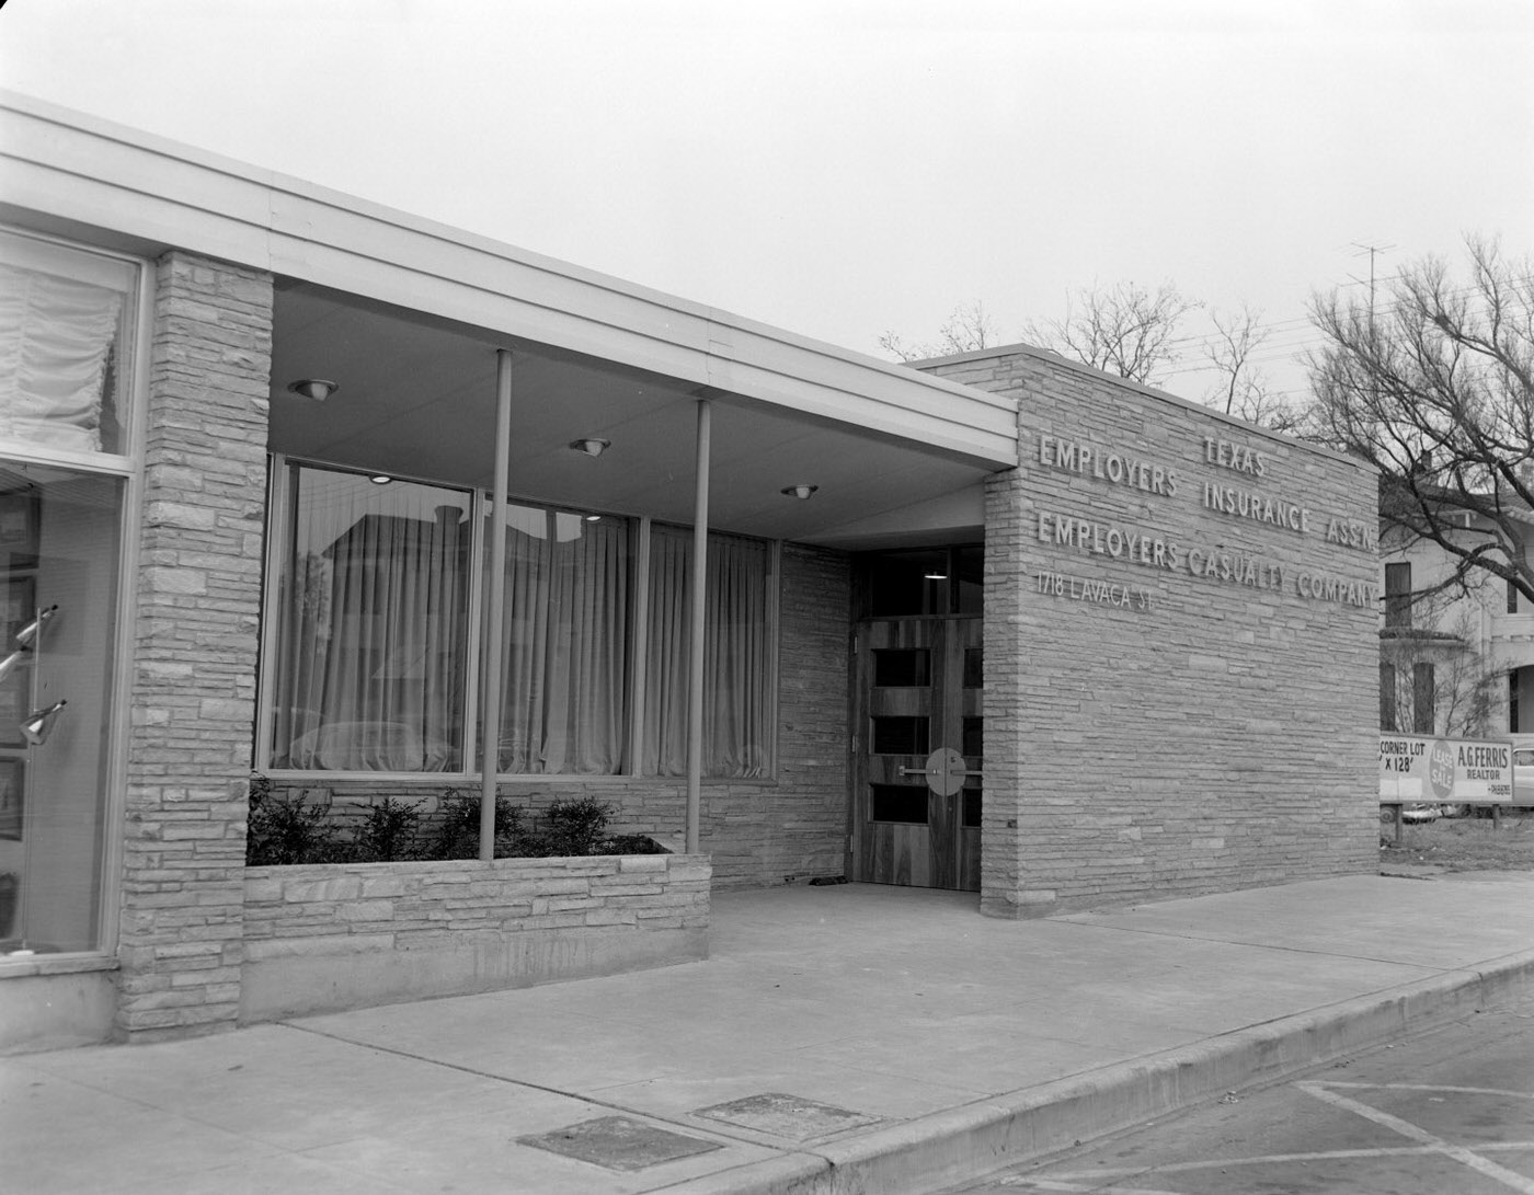
[[[1379,469],[1385,529],[1431,540],[1454,568],[1534,601],[1534,264],[1470,238],[1470,279],[1427,258],[1379,310],[1312,301],[1327,344],[1309,357],[1318,434]]]

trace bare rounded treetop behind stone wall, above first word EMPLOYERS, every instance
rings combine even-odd
[[[1183,316],[1201,305],[1172,282],[1163,282],[1155,293],[1118,282],[1106,290],[1078,290],[1066,299],[1065,319],[1029,322],[1023,336],[1092,368],[1149,385],[1177,360]]]

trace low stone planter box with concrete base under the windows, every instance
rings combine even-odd
[[[241,1022],[707,957],[706,854],[245,870]]]

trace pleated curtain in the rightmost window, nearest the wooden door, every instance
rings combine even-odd
[[[703,773],[762,776],[770,733],[767,545],[709,537],[703,657]],[[687,773],[692,532],[650,537],[649,653],[641,769]]]

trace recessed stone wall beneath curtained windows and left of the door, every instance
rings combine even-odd
[[[842,552],[785,545],[779,584],[778,775],[703,784],[700,848],[716,888],[841,876],[847,844],[847,684],[851,563]],[[430,813],[448,788],[479,795],[477,778],[282,779],[279,793],[328,793],[341,819],[376,799],[420,801]],[[680,848],[687,784],[681,776],[548,776],[502,781],[500,795],[545,808],[591,796],[614,810],[612,833],[653,835]]]

